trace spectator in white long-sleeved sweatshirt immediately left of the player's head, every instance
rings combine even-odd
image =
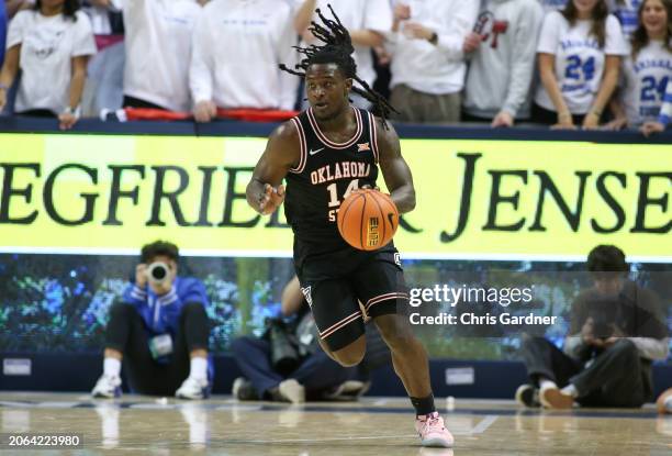
[[[284,1],[214,0],[203,8],[193,35],[189,85],[194,118],[209,122],[217,108],[292,110],[298,80],[298,36]]]

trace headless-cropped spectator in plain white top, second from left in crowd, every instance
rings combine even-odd
[[[126,0],[124,107],[190,111],[195,0]]]

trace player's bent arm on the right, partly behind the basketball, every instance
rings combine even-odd
[[[380,119],[376,119],[376,122],[378,122],[380,170],[385,179],[385,185],[399,212],[411,212],[415,208],[415,188],[411,168],[401,155],[399,136],[392,125],[388,124],[385,129]]]

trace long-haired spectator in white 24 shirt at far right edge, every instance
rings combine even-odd
[[[619,97],[612,101],[615,120],[609,126],[614,129],[659,122],[665,88],[672,81],[672,0],[645,0],[639,23],[623,64]]]

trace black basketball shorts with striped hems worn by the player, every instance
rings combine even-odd
[[[365,333],[365,314],[376,319],[403,313],[408,302],[396,249],[348,248],[306,258],[296,274],[320,338],[331,351],[344,348]]]

